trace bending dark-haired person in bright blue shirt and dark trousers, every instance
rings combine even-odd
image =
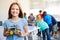
[[[52,17],[51,15],[47,14],[46,11],[43,12],[43,20],[48,24],[50,33],[52,31]]]

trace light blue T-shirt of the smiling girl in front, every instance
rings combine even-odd
[[[18,21],[13,22],[11,19],[8,19],[3,24],[4,28],[10,29],[11,27],[16,26],[21,30],[21,33],[24,34],[24,27],[27,26],[27,22],[25,19],[20,18]],[[24,40],[24,37],[19,37],[18,35],[7,36],[6,40]]]

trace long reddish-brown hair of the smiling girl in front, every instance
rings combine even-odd
[[[22,9],[21,9],[20,5],[19,5],[17,2],[13,2],[13,3],[10,5],[10,7],[9,7],[8,19],[11,19],[11,18],[12,18],[11,7],[12,7],[13,5],[17,5],[17,6],[19,7],[19,15],[18,15],[18,17],[19,17],[19,18],[23,18],[23,12],[22,12]]]

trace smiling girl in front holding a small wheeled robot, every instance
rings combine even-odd
[[[21,7],[18,3],[14,2],[10,5],[8,11],[8,20],[3,24],[4,26],[4,36],[6,40],[24,40],[24,36],[28,35],[27,22],[23,19],[23,13]],[[14,34],[10,29],[14,28],[19,29],[19,31],[14,30]]]

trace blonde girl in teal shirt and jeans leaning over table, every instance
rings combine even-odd
[[[43,21],[43,19],[42,19],[42,17],[40,15],[36,16],[35,23],[37,24],[37,26],[40,27],[40,31],[42,31],[43,40],[46,40],[45,39],[46,35],[47,35],[47,40],[51,40],[50,39],[50,33],[49,33],[49,27],[48,27],[47,23]]]

